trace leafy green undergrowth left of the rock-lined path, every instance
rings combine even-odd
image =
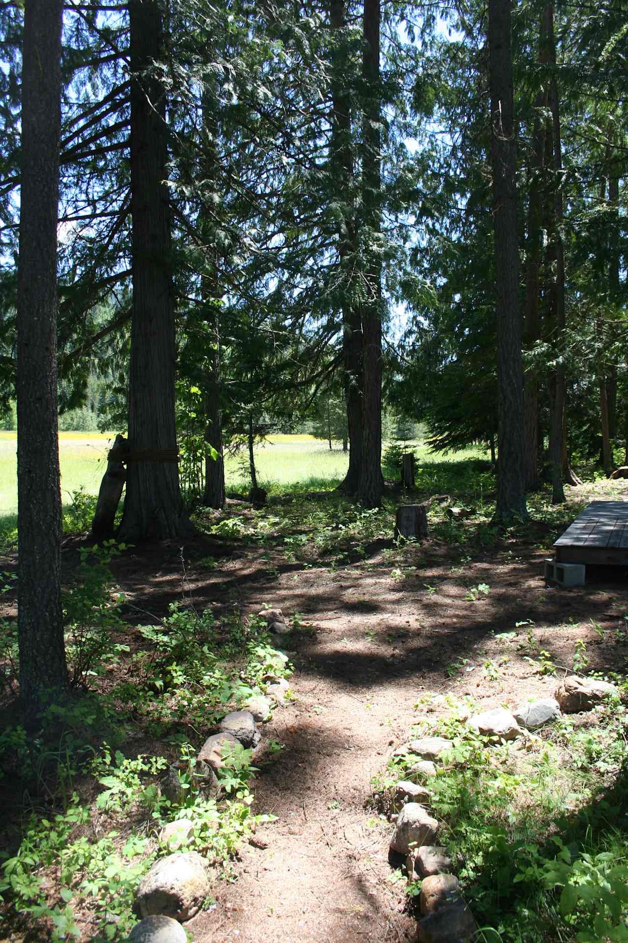
[[[66,594],[71,698],[50,706],[37,736],[19,724],[0,734],[0,789],[18,809],[0,852],[5,938],[30,930],[38,940],[125,939],[139,880],[170,851],[157,837],[164,824],[191,819],[187,850],[221,881],[233,879],[242,841],[270,818],[250,809],[250,750],[225,754],[217,795],[203,791],[196,755],[228,710],[263,693],[267,678],[290,674],[286,656],[269,644],[264,620],[217,622],[185,604],[129,632],[109,589],[108,563],[120,552],[113,543],[86,551]],[[17,658],[14,629],[8,620],[3,628],[7,696]],[[159,786],[168,770],[179,783],[170,799]]]

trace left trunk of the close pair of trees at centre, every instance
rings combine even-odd
[[[346,27],[345,0],[330,0],[330,26],[332,30],[341,30]],[[344,57],[338,56],[335,63],[337,68],[343,69],[344,63]],[[332,80],[330,158],[331,173],[335,177],[336,195],[340,201],[343,201],[344,207],[343,220],[338,231],[338,264],[342,292],[349,465],[339,490],[354,495],[358,491],[362,470],[362,323],[360,311],[355,304],[352,276],[356,258],[356,220],[352,197],[354,167],[351,148],[350,100],[346,94],[342,76]]]

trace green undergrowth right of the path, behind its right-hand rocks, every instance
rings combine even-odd
[[[621,697],[625,679],[614,676]],[[444,702],[444,703],[443,703]],[[438,704],[438,708],[435,707]],[[444,736],[437,775],[422,781],[487,943],[628,939],[628,711],[618,699],[506,742],[467,724],[478,708],[452,696],[417,703],[413,736]],[[374,802],[395,812],[395,784],[419,782],[416,756],[395,756],[373,781]],[[393,879],[403,879],[403,870]],[[411,881],[411,909],[421,882]],[[481,937],[480,937],[481,938]]]

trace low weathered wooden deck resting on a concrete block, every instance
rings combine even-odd
[[[554,546],[556,563],[628,566],[628,501],[593,501]]]

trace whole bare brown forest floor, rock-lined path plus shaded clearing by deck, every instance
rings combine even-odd
[[[389,862],[392,826],[371,781],[425,718],[421,699],[466,695],[489,709],[551,696],[572,670],[577,640],[588,671],[624,670],[625,568],[588,567],[586,586],[565,589],[546,585],[543,561],[580,507],[628,492],[624,482],[569,492],[570,505],[507,533],[477,507],[447,521],[444,505],[432,505],[430,537],[405,546],[392,539],[390,489],[379,515],[329,495],[257,511],[230,502],[202,521],[213,534],[112,560],[132,648],[132,624],[164,617],[171,603],[210,608],[217,620],[279,607],[293,625],[284,644],[293,697],[265,725],[264,743],[276,747],[251,786],[255,810],[276,820],[244,847],[237,880],[216,885],[215,905],[185,924],[198,943],[413,938]],[[68,579],[82,542],[66,542]]]

